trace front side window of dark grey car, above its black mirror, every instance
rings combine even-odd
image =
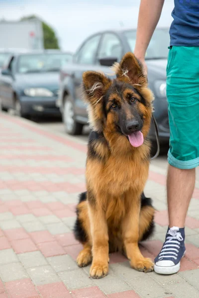
[[[116,57],[120,61],[122,57],[122,44],[119,38],[113,33],[105,33],[98,53],[98,59]]]

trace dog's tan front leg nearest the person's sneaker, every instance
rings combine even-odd
[[[138,271],[150,272],[153,270],[153,262],[149,258],[144,258],[138,247],[140,197],[132,197],[132,194],[129,194],[129,196],[131,197],[131,200],[129,200],[131,204],[129,204],[128,212],[122,223],[124,248],[132,268]]]

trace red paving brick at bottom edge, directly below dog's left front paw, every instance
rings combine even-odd
[[[73,298],[104,298],[105,295],[98,287],[84,288],[71,291]]]

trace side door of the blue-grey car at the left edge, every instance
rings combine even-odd
[[[0,98],[2,100],[2,105],[5,108],[13,107],[13,81],[14,81],[14,73],[13,73],[13,64],[14,64],[14,56],[11,57],[10,62],[7,66],[7,74],[1,73],[0,77]]]

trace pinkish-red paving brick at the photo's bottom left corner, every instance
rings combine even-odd
[[[22,279],[5,283],[10,298],[39,298],[30,279]]]

